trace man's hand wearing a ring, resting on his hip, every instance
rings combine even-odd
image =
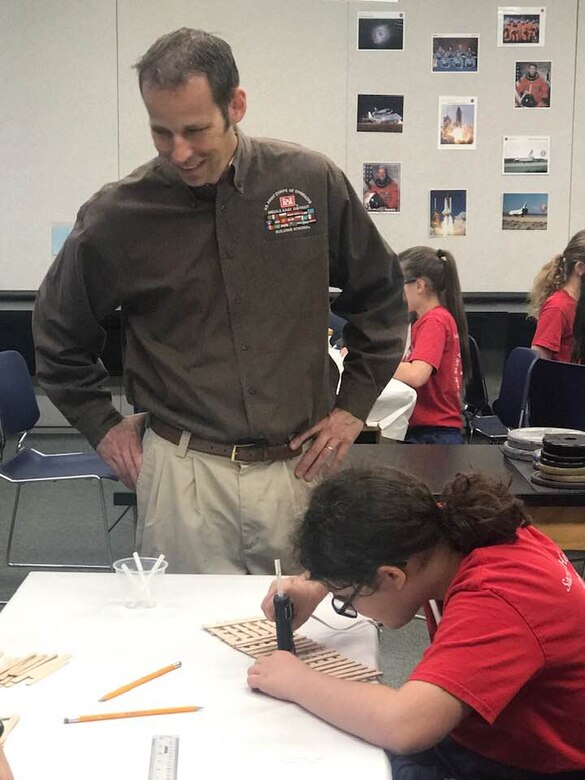
[[[333,409],[327,417],[291,441],[291,449],[298,449],[307,439],[314,439],[299,461],[295,476],[310,482],[324,469],[339,466],[363,427],[363,421],[350,412]]]

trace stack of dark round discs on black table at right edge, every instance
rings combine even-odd
[[[585,432],[547,433],[532,481],[537,485],[585,490]]]

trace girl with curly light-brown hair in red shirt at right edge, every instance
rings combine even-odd
[[[585,230],[580,230],[534,280],[529,316],[537,320],[531,346],[539,357],[585,363],[584,278]]]

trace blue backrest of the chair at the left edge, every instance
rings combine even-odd
[[[4,438],[25,433],[40,416],[26,360],[14,350],[0,352],[0,427]]]

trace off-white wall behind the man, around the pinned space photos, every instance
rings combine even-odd
[[[228,40],[249,94],[247,132],[326,152],[361,188],[362,164],[402,164],[400,214],[374,215],[401,250],[431,243],[429,190],[466,189],[465,237],[442,240],[466,291],[524,291],[585,227],[585,0],[547,0],[546,46],[496,46],[498,0],[0,0],[0,290],[36,289],[51,224],[153,155],[132,63],[163,32]],[[358,11],[403,11],[404,51],[358,52]],[[581,11],[581,14],[579,13]],[[479,34],[477,74],[431,73],[433,33]],[[552,60],[552,107],[513,108],[514,62]],[[580,67],[576,69],[576,64]],[[405,96],[402,134],[357,133],[356,96]],[[439,95],[478,98],[475,151],[437,149]],[[503,176],[502,136],[550,135],[548,176]],[[549,192],[547,231],[502,231],[504,191]]]

